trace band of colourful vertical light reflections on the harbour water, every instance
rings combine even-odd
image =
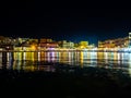
[[[131,74],[131,53],[94,51],[41,51],[41,52],[0,52],[0,69],[24,71],[55,71],[53,65],[98,66],[106,69],[127,69]]]

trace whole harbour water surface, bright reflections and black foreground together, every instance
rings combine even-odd
[[[34,53],[26,58],[19,52],[13,56],[11,52],[1,53],[0,95],[11,98],[111,98],[131,95],[130,53],[67,53],[69,56],[62,52],[57,57],[40,54],[45,57],[37,60]]]

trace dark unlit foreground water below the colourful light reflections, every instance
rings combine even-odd
[[[121,70],[59,64],[56,72],[0,70],[1,96],[102,98],[131,94],[131,78]]]

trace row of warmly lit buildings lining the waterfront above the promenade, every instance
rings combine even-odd
[[[88,48],[93,49],[95,48],[95,45],[88,45],[88,41],[80,41],[78,44],[74,44],[72,41],[53,41],[50,38],[40,38],[40,39],[31,39],[31,38],[11,38],[11,37],[4,37],[0,36],[0,48],[1,49],[8,49],[12,50],[13,48],[22,47],[23,49],[31,49],[32,50],[40,50],[40,49],[46,49],[46,48]],[[131,47],[131,33],[129,33],[129,36],[123,37],[123,38],[116,38],[116,39],[107,39],[104,41],[98,41],[98,48],[127,48]],[[14,49],[14,50],[15,50]],[[29,50],[31,50],[29,49]]]

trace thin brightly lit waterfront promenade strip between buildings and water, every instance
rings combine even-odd
[[[29,50],[22,50],[22,49],[13,49],[13,50],[4,50],[1,49],[0,52],[75,52],[75,51],[84,51],[84,52],[131,52],[131,48],[92,48],[92,49],[63,49],[63,48],[45,48],[45,49],[29,49]]]

